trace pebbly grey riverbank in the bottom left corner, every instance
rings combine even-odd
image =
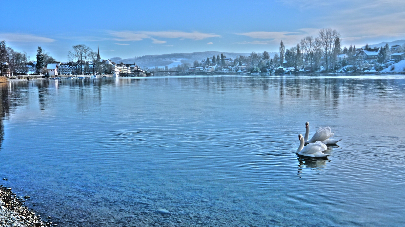
[[[50,227],[51,222],[42,221],[33,209],[23,206],[30,196],[17,196],[11,188],[0,185],[0,226],[1,227]]]

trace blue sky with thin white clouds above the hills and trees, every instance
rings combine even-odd
[[[102,59],[165,53],[276,52],[321,28],[342,45],[405,39],[404,0],[3,1],[0,40],[35,60],[85,44]]]

